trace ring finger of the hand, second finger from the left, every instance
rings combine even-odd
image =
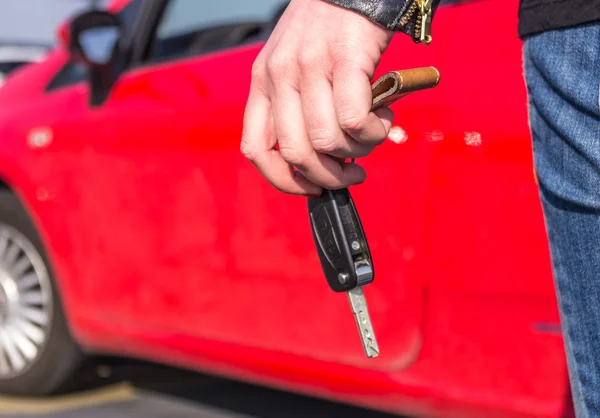
[[[273,122],[281,156],[312,183],[335,190],[361,183],[366,174],[356,164],[340,165],[317,153],[306,132],[300,93],[285,83],[272,86]]]

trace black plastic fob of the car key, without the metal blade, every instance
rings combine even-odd
[[[320,197],[308,198],[308,211],[329,287],[348,292],[371,283],[371,252],[350,191],[325,189]]]

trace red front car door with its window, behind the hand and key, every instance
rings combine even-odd
[[[274,190],[239,152],[251,65],[280,2],[165,4],[136,68],[79,120],[77,169],[63,183],[83,214],[71,228],[85,241],[92,320],[368,368],[413,361],[420,231],[398,228],[423,219],[423,180],[383,212],[380,190],[357,193],[381,275],[367,292],[386,355],[369,361],[346,298],[322,276],[306,201]],[[374,160],[374,178],[396,178],[396,158]]]

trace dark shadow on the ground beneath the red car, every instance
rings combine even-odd
[[[253,418],[398,418],[362,408],[164,367],[152,363],[98,359],[80,375],[78,390],[118,383],[132,385],[145,398],[169,399],[188,407],[223,411],[223,416]],[[72,393],[75,395],[76,393]],[[191,416],[191,415],[190,415]],[[220,416],[220,415],[215,415]]]

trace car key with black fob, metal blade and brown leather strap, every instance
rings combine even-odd
[[[375,110],[389,106],[406,95],[435,87],[437,69],[416,68],[385,74],[373,83]],[[311,229],[321,267],[334,292],[347,292],[363,349],[368,358],[379,355],[379,346],[362,287],[373,282],[375,270],[367,238],[350,191],[324,189],[308,198]]]

